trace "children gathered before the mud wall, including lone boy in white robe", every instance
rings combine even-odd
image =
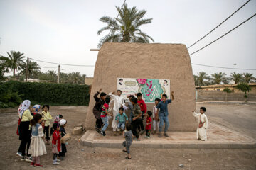
[[[165,137],[169,137],[167,134],[169,128],[168,104],[171,103],[171,101],[174,101],[174,91],[171,92],[171,99],[167,99],[166,94],[162,94],[161,99],[156,98],[152,112],[147,111],[146,103],[142,99],[141,93],[135,94],[137,98],[134,95],[127,96],[127,98],[129,98],[129,103],[125,106],[124,98],[121,96],[121,90],[117,90],[117,92],[112,92],[108,95],[101,91],[102,89],[97,91],[94,95],[96,101],[93,108],[93,114],[96,118],[95,130],[105,136],[105,130],[109,125],[109,120],[113,117],[112,129],[114,135],[123,134],[126,139],[123,142],[123,151],[128,153],[126,159],[131,159],[129,147],[132,145],[132,140],[139,141],[139,135],[144,134],[144,132],[146,132],[145,137],[150,138],[152,124],[153,134],[156,134],[157,128],[159,130],[159,137],[163,137],[163,135]],[[100,98],[98,98],[99,94]],[[110,113],[110,103],[112,101],[114,101],[114,107],[113,113]],[[129,118],[125,113],[128,108],[130,110]],[[207,140],[206,128],[208,128],[208,119],[204,114],[206,112],[206,108],[202,107],[200,112],[201,114],[197,114],[193,111],[193,115],[198,118],[199,121],[197,139]],[[144,117],[146,117],[145,127]],[[153,122],[151,117],[153,118]],[[162,133],[163,128],[164,133]]]

